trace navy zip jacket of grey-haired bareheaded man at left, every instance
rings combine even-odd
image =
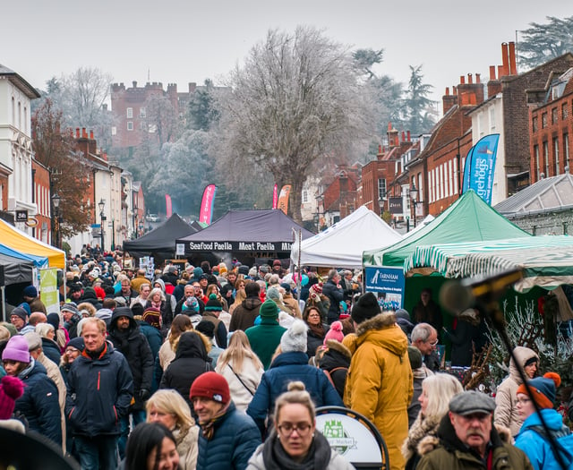
[[[119,419],[129,412],[132,397],[132,371],[124,355],[110,343],[96,359],[84,351],[68,372],[65,414],[73,434],[119,435]]]

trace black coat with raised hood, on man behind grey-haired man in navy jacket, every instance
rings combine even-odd
[[[119,317],[128,317],[130,319],[130,326],[126,331],[117,329],[117,319]],[[125,356],[132,371],[133,397],[135,398],[132,409],[144,409],[145,402],[141,399],[140,391],[147,390],[148,393],[151,391],[154,358],[147,338],[141,334],[137,322],[133,320],[131,309],[115,309],[109,323],[107,339],[111,341],[117,351]],[[144,399],[147,399],[147,397],[144,397]]]

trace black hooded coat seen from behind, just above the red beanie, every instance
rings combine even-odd
[[[203,372],[212,371],[211,359],[201,337],[187,331],[179,338],[175,359],[167,366],[159,384],[159,389],[177,390],[192,409],[189,390]]]

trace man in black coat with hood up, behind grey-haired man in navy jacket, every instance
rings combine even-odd
[[[145,422],[145,401],[150,397],[153,379],[153,355],[147,338],[133,319],[132,309],[118,307],[109,323],[109,340],[115,349],[127,359],[133,375],[133,402],[129,413],[121,417],[121,435],[117,443],[120,457],[124,458],[125,444],[129,435],[129,415],[133,426]]]

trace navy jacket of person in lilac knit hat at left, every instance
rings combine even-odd
[[[18,377],[24,382],[24,394],[16,400],[14,411],[26,417],[30,430],[61,446],[62,415],[56,384],[47,376],[46,368],[37,361]]]

